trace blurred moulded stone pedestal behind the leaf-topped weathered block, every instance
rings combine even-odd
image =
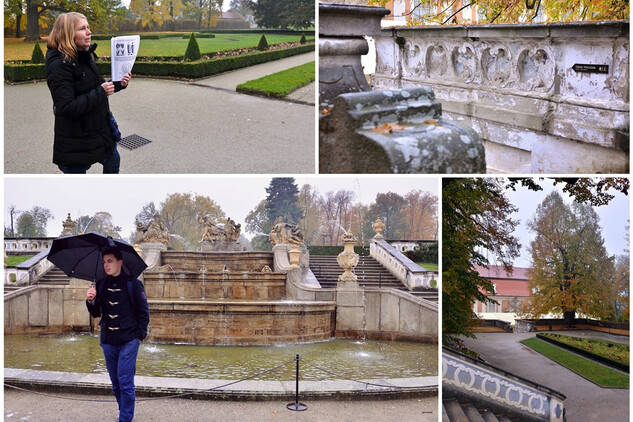
[[[369,52],[363,37],[380,35],[384,7],[319,4],[319,102],[346,92],[369,91],[360,62]]]

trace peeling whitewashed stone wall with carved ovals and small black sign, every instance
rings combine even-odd
[[[431,87],[484,139],[489,172],[628,172],[629,22],[384,29],[375,41],[373,89]]]

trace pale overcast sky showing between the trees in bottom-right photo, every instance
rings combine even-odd
[[[527,188],[517,187],[516,191],[509,190],[507,192],[510,202],[519,208],[519,211],[512,214],[511,218],[521,221],[514,233],[521,243],[521,256],[514,261],[514,265],[517,267],[530,266],[528,247],[535,235],[528,230],[527,222],[534,217],[536,207],[553,190],[558,190],[566,203],[573,202],[567,194],[562,192],[564,184],[559,183],[554,186],[550,179],[539,180],[538,183],[543,187],[542,191],[534,192]],[[615,198],[608,205],[594,207],[594,210],[600,217],[602,236],[607,252],[611,255],[620,255],[627,248],[625,232],[629,219],[629,197],[619,192],[611,193],[615,195]]]

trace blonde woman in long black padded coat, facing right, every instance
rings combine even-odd
[[[108,97],[127,87],[99,73],[88,20],[81,13],[59,15],[48,37],[46,82],[53,97],[53,163],[63,173],[85,173],[94,163],[118,173],[121,158],[110,128]]]

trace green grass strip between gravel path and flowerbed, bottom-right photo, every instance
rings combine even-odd
[[[629,386],[628,375],[609,369],[537,338],[529,338],[521,343],[601,387],[627,388]]]

